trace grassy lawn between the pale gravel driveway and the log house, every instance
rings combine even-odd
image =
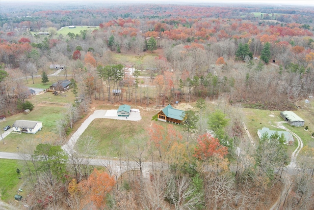
[[[136,121],[95,119],[93,120],[78,141],[92,136],[98,142],[97,151],[93,155],[117,156],[116,145],[127,146],[139,135],[145,133],[145,128]],[[143,142],[145,144],[146,142]],[[122,148],[119,148],[122,151]]]

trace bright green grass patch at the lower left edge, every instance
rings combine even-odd
[[[24,179],[19,180],[21,174],[16,169],[23,167],[19,160],[0,159],[0,194],[3,201],[14,200],[17,190]]]

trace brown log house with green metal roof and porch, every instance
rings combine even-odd
[[[184,111],[174,109],[170,104],[158,112],[158,120],[164,122],[171,122],[175,124],[181,124],[184,116]]]

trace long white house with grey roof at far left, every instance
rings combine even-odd
[[[35,134],[42,129],[43,123],[32,120],[16,120],[13,125],[13,132],[32,133]]]

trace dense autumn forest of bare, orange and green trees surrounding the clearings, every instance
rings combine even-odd
[[[262,136],[249,148],[237,110],[296,110],[301,99],[313,97],[314,7],[96,4],[1,2],[0,116],[27,108],[22,81],[34,83],[39,76],[46,84],[50,64],[65,66],[64,79],[81,101],[67,107],[60,139],[24,151],[33,191],[23,204],[73,210],[313,208],[313,145],[301,150],[300,172],[290,183],[283,137]],[[88,28],[62,34],[69,26]],[[147,62],[116,59],[129,55],[156,56]],[[142,86],[143,72],[150,86]],[[225,105],[202,120],[213,100],[232,108]],[[137,141],[131,151],[117,152],[121,174],[128,168],[124,179],[110,164],[101,170],[86,162],[97,147],[91,137],[76,146],[84,148],[80,154],[61,149],[95,102],[163,107],[176,101],[193,102],[199,111],[185,112],[182,131],[152,122],[147,141],[137,137],[144,145]],[[213,136],[205,134],[206,126]],[[128,163],[122,167],[121,161]],[[145,161],[152,164],[149,179]],[[132,163],[139,170],[131,170]],[[282,193],[284,200],[272,207]]]

